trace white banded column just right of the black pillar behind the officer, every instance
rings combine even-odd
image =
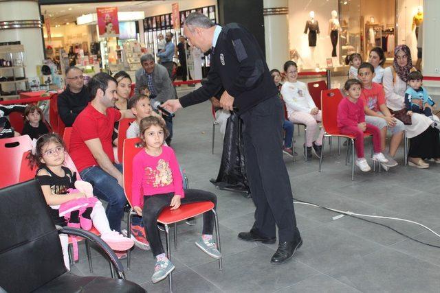
[[[289,60],[289,13],[287,0],[263,0],[266,62],[269,69],[283,71]]]

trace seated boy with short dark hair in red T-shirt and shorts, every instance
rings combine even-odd
[[[364,100],[365,121],[380,129],[382,152],[385,154],[388,163],[381,163],[388,171],[397,162],[394,156],[404,135],[405,126],[402,121],[393,117],[386,107],[385,93],[382,85],[373,82],[374,67],[368,62],[363,62],[358,69],[358,78],[362,83],[361,98]],[[386,132],[392,133],[389,152],[386,153]]]

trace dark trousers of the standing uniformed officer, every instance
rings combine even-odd
[[[280,242],[300,237],[292,189],[283,161],[283,106],[278,96],[263,100],[241,115],[245,165],[256,206],[252,230]]]

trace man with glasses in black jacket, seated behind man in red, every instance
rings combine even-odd
[[[74,124],[79,113],[90,102],[90,95],[84,86],[83,71],[72,66],[66,69],[66,89],[58,95],[58,115],[66,127]]]

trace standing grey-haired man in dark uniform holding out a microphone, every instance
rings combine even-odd
[[[283,263],[294,256],[303,239],[296,227],[292,189],[283,161],[283,108],[263,52],[241,25],[214,25],[199,12],[186,18],[184,34],[195,47],[204,52],[212,50],[208,81],[162,106],[175,112],[206,101],[223,86],[221,106],[235,110],[243,120],[246,172],[256,206],[254,226],[250,232],[239,233],[239,239],[272,244],[276,242],[277,225],[279,244],[271,263]]]

